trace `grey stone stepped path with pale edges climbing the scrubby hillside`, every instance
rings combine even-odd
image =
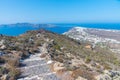
[[[41,53],[45,52],[45,45],[40,48]],[[51,72],[44,58],[40,58],[41,53],[31,55],[28,59],[22,61],[20,69],[22,74],[18,80],[60,80],[55,73]]]

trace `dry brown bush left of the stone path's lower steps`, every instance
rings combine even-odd
[[[7,70],[6,74],[9,80],[16,80],[20,75],[20,70],[17,69],[19,67],[19,58],[15,55],[6,55],[2,57],[5,61],[5,69]]]

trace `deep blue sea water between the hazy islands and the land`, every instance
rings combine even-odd
[[[39,30],[45,29],[52,31],[57,34],[62,34],[67,32],[73,27],[85,27],[85,28],[96,28],[96,29],[109,29],[109,30],[120,30],[120,23],[82,23],[82,24],[52,24],[53,26],[42,26],[42,27],[32,27],[27,25],[10,26],[10,25],[0,25],[0,34],[8,36],[18,36],[24,34],[29,30]]]

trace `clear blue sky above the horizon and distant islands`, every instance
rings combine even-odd
[[[0,0],[0,24],[120,23],[120,0]]]

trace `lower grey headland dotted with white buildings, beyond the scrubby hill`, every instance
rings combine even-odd
[[[92,29],[74,27],[65,35],[79,40],[89,41],[93,45],[99,45],[102,47],[110,48],[112,51],[120,53],[120,31],[119,30],[103,30],[103,29]]]

